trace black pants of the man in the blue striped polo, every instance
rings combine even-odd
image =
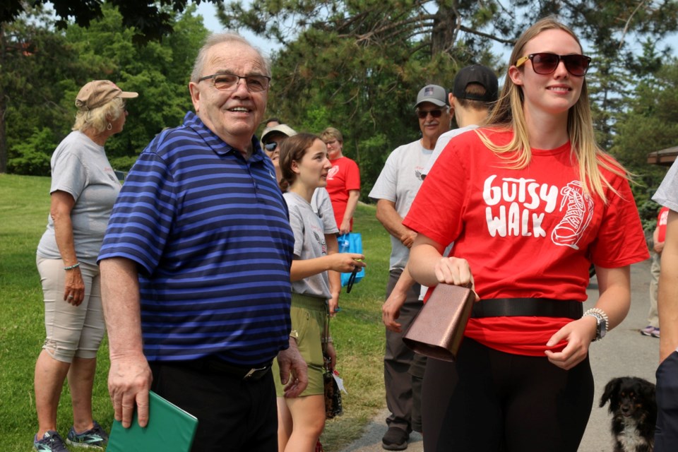
[[[278,451],[270,370],[261,379],[242,380],[181,363],[151,362],[150,369],[151,389],[198,418],[192,452]]]

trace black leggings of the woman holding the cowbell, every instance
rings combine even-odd
[[[422,397],[427,452],[576,452],[593,374],[465,338],[456,363],[428,359]]]

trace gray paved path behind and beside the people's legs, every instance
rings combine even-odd
[[[595,400],[593,411],[579,447],[580,452],[608,452],[612,450],[609,434],[609,415],[606,408],[599,408],[602,390],[609,379],[616,376],[640,376],[655,381],[655,369],[659,360],[659,340],[641,335],[638,331],[646,326],[649,307],[650,261],[631,267],[631,311],[624,322],[611,331],[605,339],[591,346],[591,366],[595,377]],[[584,309],[593,307],[598,297],[595,278],[588,287],[588,302]],[[383,452],[381,436],[386,432],[386,410],[379,412],[362,438],[343,448],[340,452]],[[410,436],[408,452],[423,452],[422,437]]]

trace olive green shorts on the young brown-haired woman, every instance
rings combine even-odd
[[[309,365],[309,386],[301,396],[315,396],[325,393],[323,383],[323,338],[325,319],[328,315],[327,302],[323,298],[292,293],[292,330],[299,333],[297,347],[304,361]],[[280,383],[280,367],[278,359],[273,359],[273,376],[275,393],[278,397],[285,395]]]

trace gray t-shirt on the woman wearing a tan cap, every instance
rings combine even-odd
[[[120,191],[104,147],[80,131],[72,131],[52,155],[52,186],[49,193],[65,191],[76,203],[71,210],[73,242],[78,261],[97,263],[113,204]],[[54,221],[47,215],[47,230],[37,245],[37,255],[60,259],[54,238]]]

